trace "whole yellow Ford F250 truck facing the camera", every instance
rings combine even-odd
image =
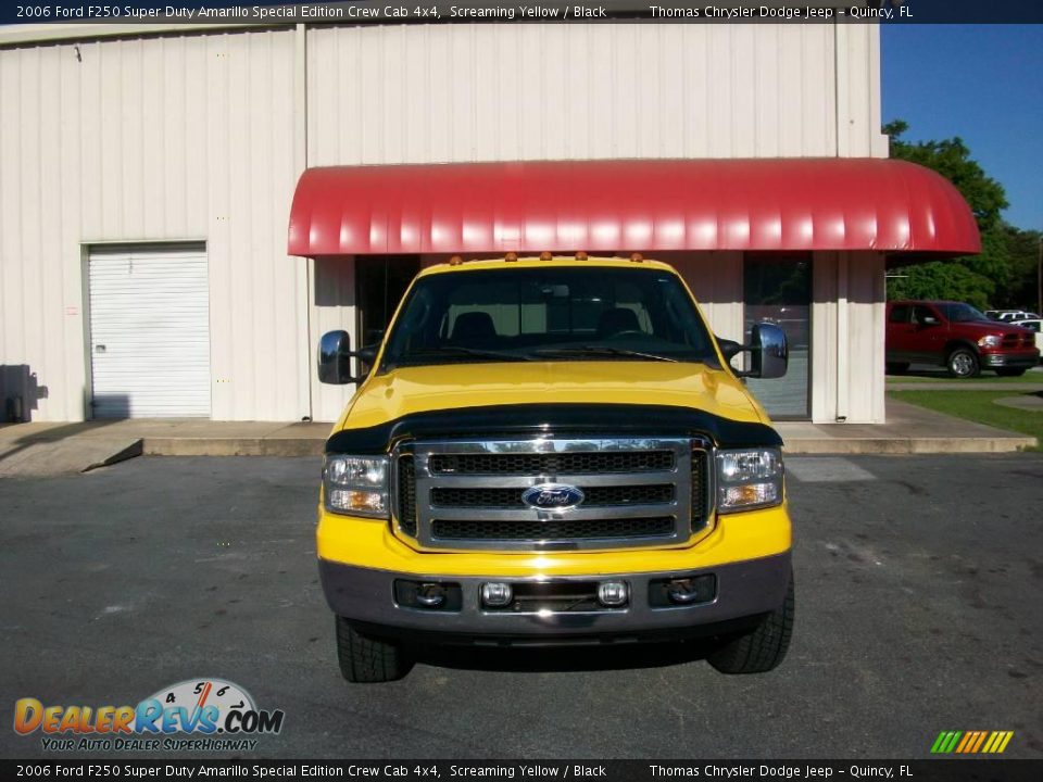
[[[740,378],[786,362],[778,327],[715,338],[637,254],[454,257],[379,348],[324,335],[319,379],[359,382],[316,532],[344,678],[399,679],[419,642],[689,635],[726,673],[775,668],[794,610],[782,442]]]

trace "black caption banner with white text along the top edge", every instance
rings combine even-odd
[[[668,24],[1043,24],[1039,0],[353,0],[241,3],[227,0],[39,0],[4,4],[0,24],[288,25],[473,23]],[[1041,40],[1043,43],[1043,40]]]

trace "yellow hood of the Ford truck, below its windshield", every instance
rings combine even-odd
[[[403,367],[370,376],[336,427],[375,427],[415,413],[520,404],[634,404],[765,422],[729,373],[667,362],[518,362]]]

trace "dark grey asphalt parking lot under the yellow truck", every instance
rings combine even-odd
[[[1043,454],[792,457],[797,619],[772,673],[698,646],[427,654],[349,685],[312,541],[318,464],[137,458],[0,480],[0,707],[219,677],[282,709],[257,757],[1043,757]],[[0,755],[45,756],[3,717]]]

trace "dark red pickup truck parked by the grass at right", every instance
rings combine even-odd
[[[909,364],[937,364],[957,378],[977,377],[982,369],[1009,377],[1040,362],[1029,329],[990,320],[969,304],[947,301],[888,302],[884,352],[892,375]]]

